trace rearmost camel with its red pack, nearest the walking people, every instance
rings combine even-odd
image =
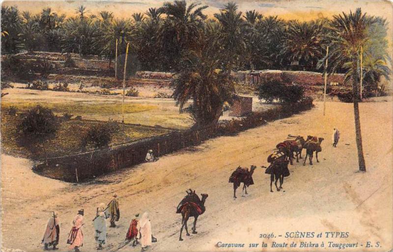
[[[203,214],[205,212],[205,201],[206,198],[209,196],[208,194],[201,194],[202,199],[199,200],[199,197],[197,194],[195,194],[195,191],[193,193],[194,195],[189,194],[190,196],[189,200],[187,199],[188,196],[184,200],[186,200],[184,203],[180,202],[179,206],[180,207],[180,213],[182,215],[182,220],[181,220],[181,228],[180,228],[180,237],[179,241],[183,241],[181,238],[181,233],[183,231],[183,227],[185,227],[187,236],[190,236],[187,228],[187,221],[190,217],[194,217],[194,227],[192,227],[193,234],[197,233],[197,219],[199,215]],[[193,200],[194,198],[194,200]],[[179,209],[179,207],[178,207]]]

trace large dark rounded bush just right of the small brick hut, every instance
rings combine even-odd
[[[300,101],[304,95],[304,90],[301,86],[294,84],[285,85],[272,78],[262,80],[257,91],[258,98],[269,103],[274,100],[284,103],[295,103]]]

